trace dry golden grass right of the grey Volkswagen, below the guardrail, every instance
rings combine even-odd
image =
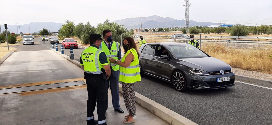
[[[202,46],[202,50],[233,68],[272,74],[271,49],[234,49],[207,43]]]

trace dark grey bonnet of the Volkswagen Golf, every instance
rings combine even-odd
[[[178,59],[181,60],[180,63],[183,63],[191,68],[196,68],[204,70],[207,72],[215,72],[220,70],[230,70],[230,66],[223,62],[220,59],[214,57],[203,57],[203,58],[187,58],[187,59]]]

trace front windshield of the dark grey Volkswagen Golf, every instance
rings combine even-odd
[[[192,45],[167,46],[175,58],[201,58],[209,57]]]

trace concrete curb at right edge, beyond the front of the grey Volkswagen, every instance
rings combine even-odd
[[[252,77],[242,76],[242,75],[235,75],[235,79],[240,79],[240,80],[249,81],[249,82],[255,82],[255,83],[264,84],[264,85],[272,85],[272,81],[258,79],[258,78],[252,78]]]

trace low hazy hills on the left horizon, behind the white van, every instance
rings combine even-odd
[[[41,28],[47,28],[48,31],[50,32],[57,32],[60,27],[61,23],[54,23],[54,22],[31,22],[29,24],[24,24],[24,25],[18,25],[18,33],[20,32],[19,26],[21,27],[21,32],[23,33],[39,33]],[[5,27],[4,25],[1,25],[1,31],[4,31]],[[8,25],[8,30],[10,30],[10,33],[15,33],[17,34],[17,25]]]

